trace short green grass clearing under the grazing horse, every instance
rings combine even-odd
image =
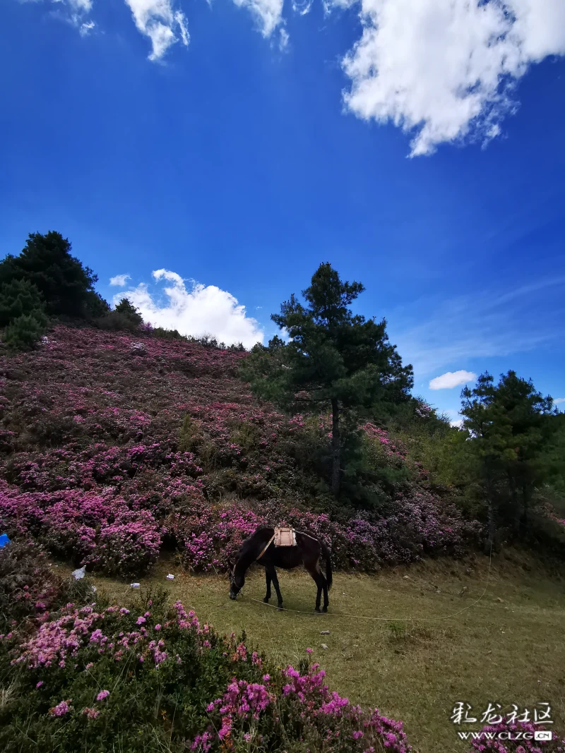
[[[481,596],[487,574],[488,559],[480,556],[376,577],[337,573],[327,615],[279,612],[253,601],[264,596],[262,569],[252,572],[237,602],[228,599],[227,578],[189,575],[172,560],[141,582],[163,586],[221,632],[246,630],[281,665],[313,648],[332,689],[405,721],[421,753],[450,753],[469,749],[450,721],[459,700],[478,712],[489,702],[533,709],[548,701],[554,729],[565,731],[565,581],[512,552],[493,559],[478,604],[451,617]],[[279,581],[286,608],[312,611],[316,589],[305,572],[280,572]],[[93,582],[116,599],[131,593],[129,584]]]

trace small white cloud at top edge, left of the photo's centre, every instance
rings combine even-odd
[[[173,11],[171,0],[126,0],[137,29],[151,40],[150,60],[159,60],[177,41],[188,47],[185,15]]]

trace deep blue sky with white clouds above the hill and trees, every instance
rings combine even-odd
[[[0,254],[60,230],[246,344],[331,261],[454,419],[445,373],[565,398],[563,0],[4,0],[0,38]]]

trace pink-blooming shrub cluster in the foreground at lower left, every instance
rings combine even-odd
[[[0,572],[7,557],[0,550]],[[43,590],[61,587],[49,572],[37,577]],[[117,739],[124,751],[172,753],[249,745],[274,753],[289,742],[313,753],[411,750],[402,723],[332,693],[318,665],[279,669],[245,636],[219,636],[164,593],[138,593],[127,606],[89,603],[82,585],[80,602],[0,633],[0,671],[18,691],[0,704],[3,751],[70,753],[85,739],[97,751]],[[12,600],[9,620],[16,608]]]

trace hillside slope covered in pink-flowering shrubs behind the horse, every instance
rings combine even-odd
[[[476,534],[371,424],[374,463],[407,468],[407,483],[371,515],[325,512],[319,479],[301,462],[312,422],[258,404],[237,378],[242,358],[63,325],[35,352],[2,352],[2,531],[124,576],[145,572],[163,546],[194,570],[224,569],[267,522],[319,535],[336,566],[368,571],[457,553]],[[314,429],[327,439],[323,418]]]

